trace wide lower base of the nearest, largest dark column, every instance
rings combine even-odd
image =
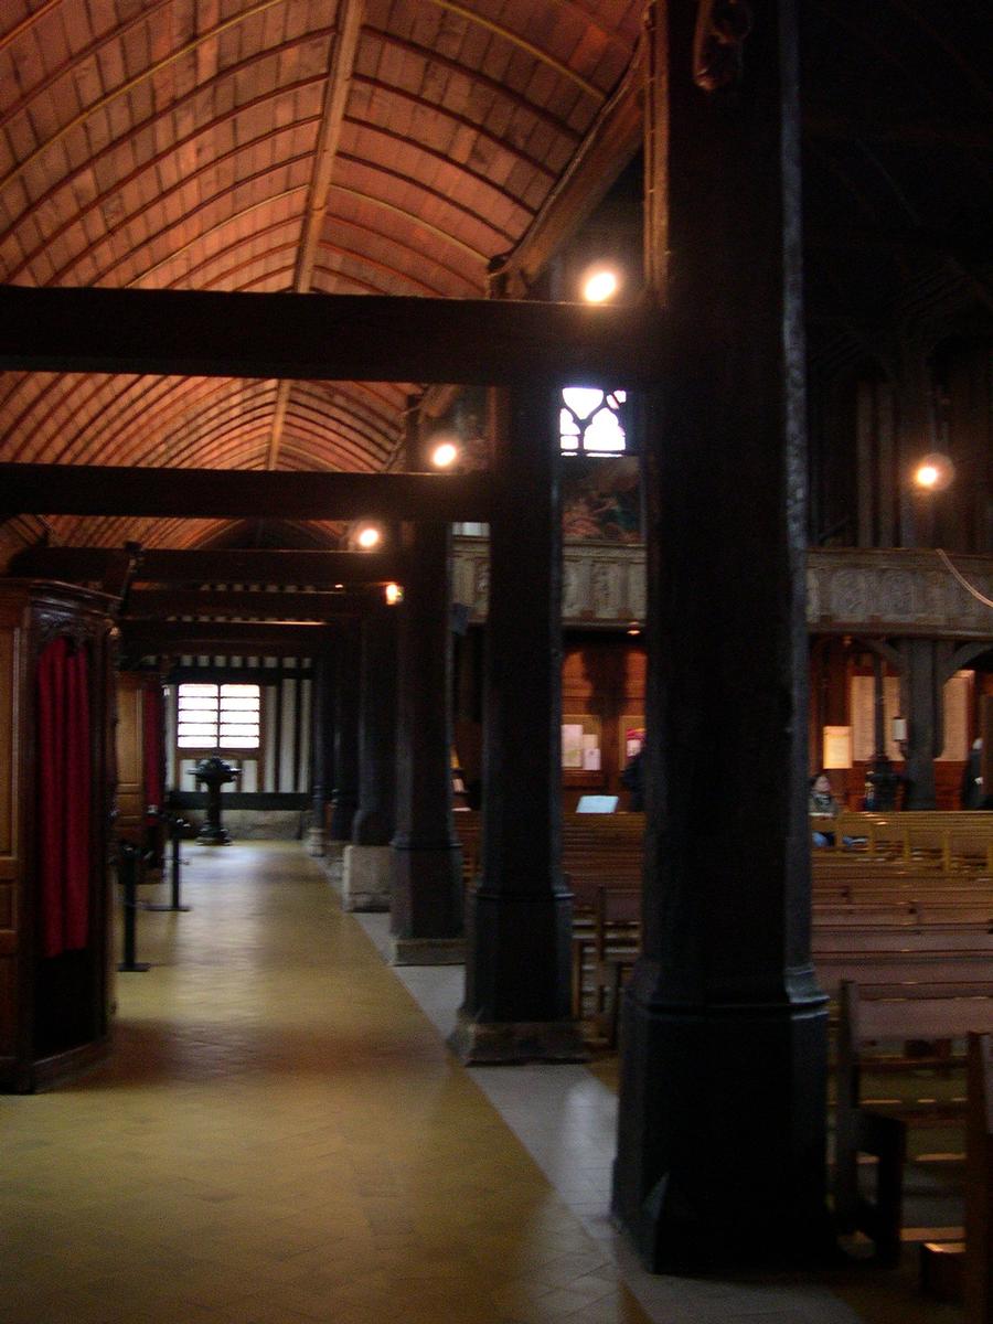
[[[642,970],[641,974],[649,974]],[[822,1263],[826,998],[624,1000],[612,1213],[649,1272]]]

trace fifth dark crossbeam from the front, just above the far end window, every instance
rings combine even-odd
[[[311,655],[324,647],[332,625],[299,621],[158,621],[122,622],[120,647],[126,655],[176,657],[200,654]]]

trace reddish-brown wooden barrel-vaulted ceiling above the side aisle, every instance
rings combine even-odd
[[[483,297],[622,79],[641,11],[7,0],[0,282]],[[8,372],[0,458],[380,471],[416,387]],[[95,545],[224,532],[52,524]]]

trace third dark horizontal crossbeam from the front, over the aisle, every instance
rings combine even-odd
[[[119,556],[110,547],[28,547],[11,561],[12,575],[103,581]],[[217,548],[148,551],[132,583],[150,584],[384,584],[402,580],[397,552],[298,552]]]

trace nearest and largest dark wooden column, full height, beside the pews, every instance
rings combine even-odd
[[[645,955],[622,1013],[613,1211],[653,1271],[830,1241],[794,7],[748,11],[740,49],[711,40],[710,5],[650,16],[647,257],[671,320],[647,410]]]

